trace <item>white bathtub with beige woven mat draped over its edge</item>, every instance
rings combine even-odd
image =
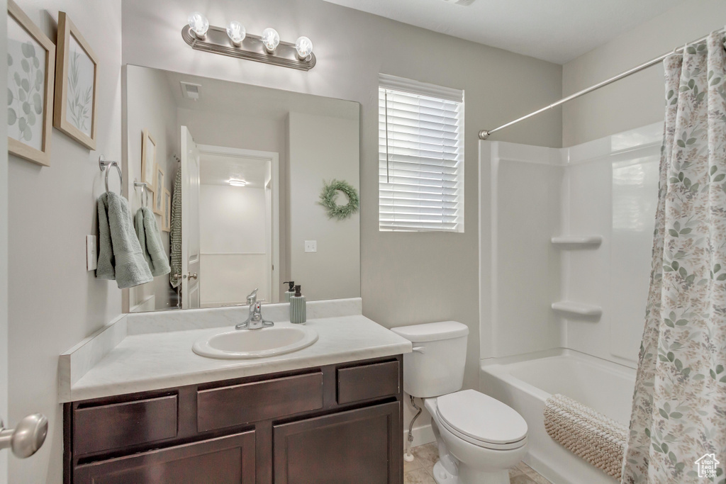
[[[635,369],[574,350],[548,350],[483,360],[481,392],[518,411],[529,427],[524,462],[554,484],[613,484],[616,480],[572,454],[544,430],[544,401],[562,393],[626,427]]]

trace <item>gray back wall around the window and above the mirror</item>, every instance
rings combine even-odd
[[[249,33],[273,25],[285,41],[309,36],[317,65],[306,73],[190,49],[179,31],[197,9],[212,25],[238,18]],[[467,324],[465,385],[477,386],[476,134],[558,99],[561,66],[321,0],[125,0],[123,26],[124,63],[361,103],[363,312],[387,327],[446,319]],[[465,233],[378,231],[378,73],[465,90]],[[560,112],[551,112],[505,131],[500,139],[559,147],[561,125]]]

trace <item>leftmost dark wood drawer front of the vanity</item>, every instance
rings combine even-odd
[[[75,454],[176,437],[176,395],[73,411]]]

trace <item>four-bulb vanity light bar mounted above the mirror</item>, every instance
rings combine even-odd
[[[227,28],[209,25],[200,12],[189,15],[188,24],[181,29],[181,38],[192,49],[291,69],[311,70],[316,62],[313,43],[305,36],[298,37],[295,44],[280,41],[280,33],[274,28],[266,28],[261,36],[254,36],[237,20],[229,22]]]

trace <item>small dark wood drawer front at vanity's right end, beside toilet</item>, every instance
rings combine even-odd
[[[399,394],[398,361],[338,369],[338,403]]]

